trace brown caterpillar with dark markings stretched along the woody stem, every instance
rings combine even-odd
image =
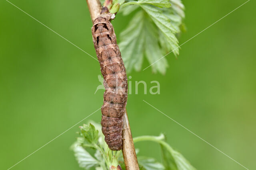
[[[127,76],[110,17],[111,14],[102,14],[94,20],[92,38],[105,87],[101,108],[102,133],[111,150],[121,150]]]

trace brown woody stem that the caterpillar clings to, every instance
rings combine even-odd
[[[100,15],[101,12],[101,4],[99,0],[86,0],[89,8],[89,12],[91,15],[92,23],[94,22],[95,18]],[[132,133],[130,129],[129,120],[127,117],[127,111],[123,117],[123,133],[122,139],[123,146],[122,152],[124,157],[124,164],[126,170],[139,170],[138,160],[136,156],[136,152],[134,149],[134,143],[132,139]]]

